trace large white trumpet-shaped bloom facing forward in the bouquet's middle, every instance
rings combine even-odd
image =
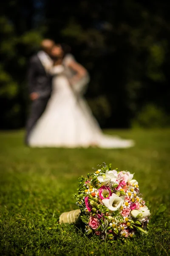
[[[118,195],[116,195],[114,193],[110,196],[109,199],[102,200],[105,207],[108,207],[108,209],[111,211],[118,210],[122,206],[124,201],[125,201],[124,196],[119,197]]]

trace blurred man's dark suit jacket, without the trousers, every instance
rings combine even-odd
[[[37,55],[34,55],[28,67],[28,90],[29,93],[37,92],[40,98],[51,95],[52,76],[47,74]]]

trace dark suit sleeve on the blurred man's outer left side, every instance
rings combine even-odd
[[[28,91],[29,93],[34,92],[34,82],[36,76],[36,62],[31,59],[28,64],[27,80],[28,80]]]

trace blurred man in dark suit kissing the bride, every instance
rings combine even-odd
[[[52,77],[49,74],[49,70],[53,65],[50,55],[54,44],[54,41],[44,39],[41,42],[41,51],[30,60],[28,68],[28,90],[31,99],[31,109],[26,123],[27,145],[31,130],[44,112],[51,95]]]

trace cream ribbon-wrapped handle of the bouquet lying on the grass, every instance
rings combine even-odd
[[[62,224],[62,223],[76,224],[76,222],[79,219],[80,212],[81,212],[80,209],[76,209],[70,212],[63,212],[59,216],[59,224]]]

